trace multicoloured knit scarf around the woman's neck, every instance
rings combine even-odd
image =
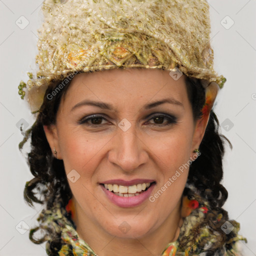
[[[190,185],[195,191],[195,188]],[[194,193],[193,199],[188,199],[187,196],[182,197],[182,211],[185,213],[183,224],[180,227],[180,233],[176,241],[166,245],[161,253],[161,256],[241,256],[238,249],[238,240],[246,238],[238,235],[240,229],[239,223],[235,220],[223,219],[222,213],[215,213],[209,206],[205,198]],[[55,233],[61,233],[62,245],[58,250],[58,256],[98,256],[90,246],[82,240],[76,230],[73,221],[68,219],[68,213],[73,215],[73,206],[71,199],[65,208],[60,207],[57,203],[56,207],[50,210],[42,210],[37,220],[41,219],[40,228],[52,230]],[[214,222],[214,226],[220,228],[209,227],[205,218]],[[221,224],[223,223],[223,224]],[[220,232],[226,233],[226,240],[219,243]],[[47,240],[52,239],[48,236]],[[216,247],[216,244],[218,246]],[[219,245],[221,244],[221,245]],[[50,254],[49,242],[46,243],[46,252]],[[208,254],[207,254],[208,253]],[[55,254],[54,254],[55,255]]]

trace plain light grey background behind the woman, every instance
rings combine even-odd
[[[240,234],[248,239],[241,247],[244,255],[252,256],[256,255],[256,1],[208,2],[214,67],[227,78],[214,110],[222,134],[233,145],[232,150],[226,147],[224,157],[222,184],[228,198],[223,207],[240,222]],[[0,255],[4,256],[46,255],[44,244],[28,239],[26,224],[36,224],[42,206],[33,209],[23,200],[25,182],[33,176],[18,150],[22,135],[17,128],[21,119],[29,126],[34,121],[17,86],[35,68],[41,3],[0,0]]]

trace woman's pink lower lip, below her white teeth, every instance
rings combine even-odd
[[[141,204],[143,201],[145,201],[149,197],[149,195],[151,194],[151,192],[154,188],[154,185],[155,185],[155,183],[152,183],[147,188],[146,191],[144,191],[138,195],[133,195],[133,196],[128,196],[128,197],[116,195],[116,194],[110,192],[109,190],[107,190],[104,187],[104,185],[100,185],[100,186],[102,187],[102,189],[105,192],[108,199],[115,205],[117,205],[119,207],[135,207],[135,206]]]

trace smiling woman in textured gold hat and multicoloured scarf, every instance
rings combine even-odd
[[[207,2],[42,9],[39,71],[27,82],[38,114],[20,148],[31,136],[24,198],[46,207],[29,238],[47,240],[48,255],[240,255],[246,239],[221,208],[212,107],[225,78],[212,67]]]

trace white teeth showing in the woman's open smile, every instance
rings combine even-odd
[[[104,187],[109,191],[113,191],[119,196],[133,196],[138,195],[141,191],[150,186],[150,183],[141,183],[132,186],[122,186],[117,184],[104,184]]]

